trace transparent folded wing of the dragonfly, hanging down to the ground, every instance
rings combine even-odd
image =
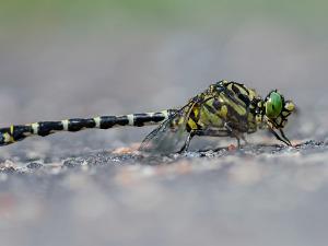
[[[186,127],[194,104],[195,102],[190,101],[149,133],[139,150],[163,154],[180,151],[189,136]]]

